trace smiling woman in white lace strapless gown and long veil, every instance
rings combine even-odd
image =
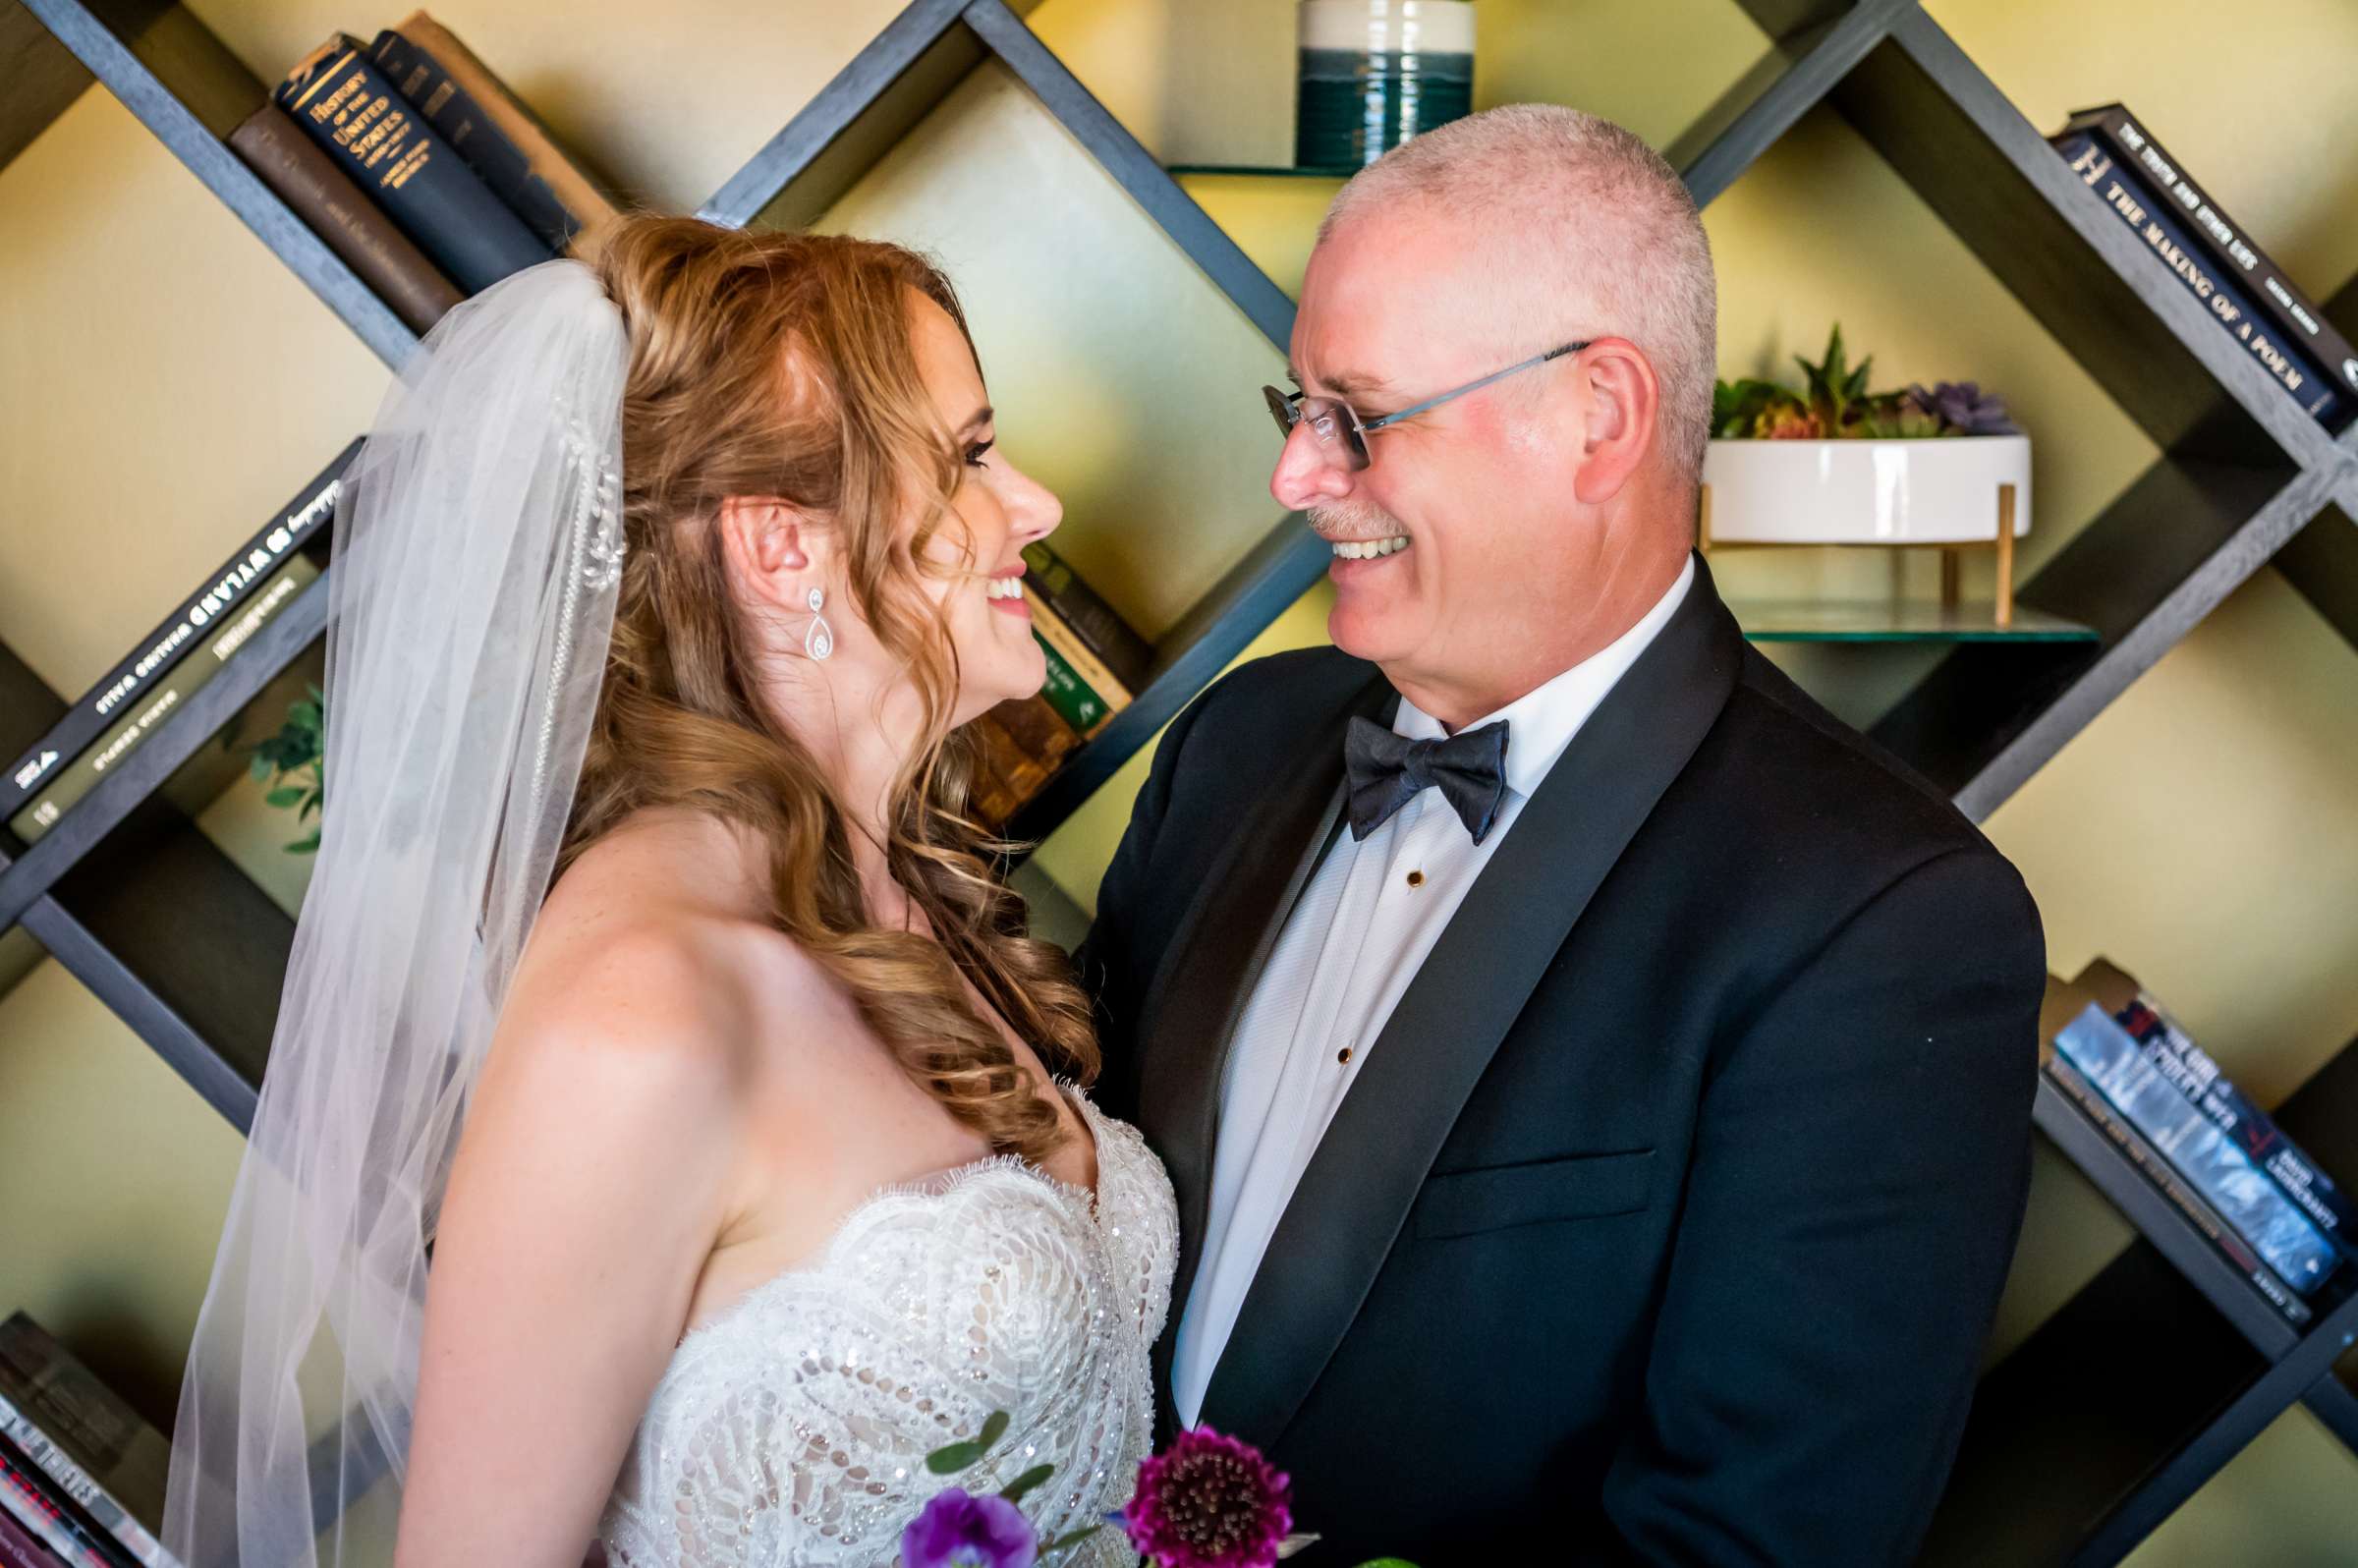
[[[953,733],[1040,689],[1059,514],[894,245],[634,217],[424,340],[340,502],[189,1568],[875,1568],[1000,1410],[960,1485],[1129,1500],[1170,1184]]]

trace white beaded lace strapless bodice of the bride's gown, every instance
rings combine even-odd
[[[1000,1155],[856,1207],[821,1254],[689,1332],[599,1521],[613,1568],[884,1568],[943,1485],[1023,1497],[1040,1537],[1129,1502],[1179,1221],[1137,1129],[1075,1094],[1096,1198]],[[943,1481],[924,1455],[1012,1422]],[[1134,1563],[1118,1528],[1059,1563]]]

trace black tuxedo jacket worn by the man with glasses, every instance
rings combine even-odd
[[[1174,1327],[1231,1030],[1346,719],[1396,703],[1332,648],[1236,670],[1106,870],[1082,974],[1179,1193]],[[1910,1559],[2023,1217],[2042,979],[2014,868],[1698,561],[1377,1035],[1203,1419],[1344,1568]]]

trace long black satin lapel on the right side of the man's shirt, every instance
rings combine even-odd
[[[1500,1040],[1695,755],[1740,655],[1743,632],[1698,561],[1686,601],[1523,804],[1377,1035],[1269,1238],[1205,1422],[1264,1450],[1292,1422]]]

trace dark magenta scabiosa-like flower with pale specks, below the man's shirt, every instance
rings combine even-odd
[[[1196,1427],[1139,1464],[1122,1526],[1160,1568],[1271,1568],[1295,1528],[1292,1485],[1252,1443]]]

